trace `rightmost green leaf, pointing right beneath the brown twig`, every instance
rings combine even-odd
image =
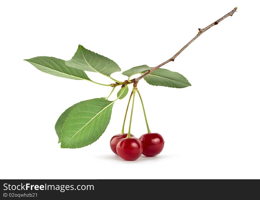
[[[146,71],[143,73],[145,72]],[[185,88],[191,86],[191,83],[189,83],[189,81],[181,74],[162,68],[144,76],[144,80],[154,86],[166,86],[171,88]]]

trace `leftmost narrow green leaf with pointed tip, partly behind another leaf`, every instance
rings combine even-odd
[[[54,76],[75,80],[90,80],[84,71],[66,66],[65,60],[47,56],[39,56],[25,60],[38,70]]]

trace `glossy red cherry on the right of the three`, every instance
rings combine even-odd
[[[159,133],[146,133],[139,139],[143,144],[143,155],[145,156],[155,156],[163,150],[164,140]]]

